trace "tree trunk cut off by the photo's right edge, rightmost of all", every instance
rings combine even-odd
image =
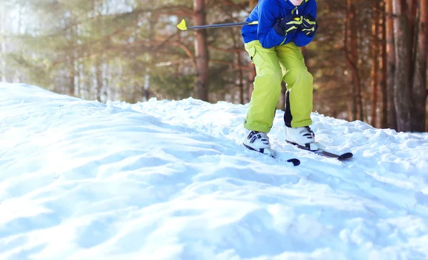
[[[427,58],[428,58],[428,13],[427,1],[419,2],[419,29],[414,59],[414,80],[412,88],[412,130],[424,132],[427,103]]]

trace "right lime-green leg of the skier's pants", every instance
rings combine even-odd
[[[313,77],[307,71],[302,51],[294,43],[275,49],[287,83],[285,125],[292,128],[311,125]]]

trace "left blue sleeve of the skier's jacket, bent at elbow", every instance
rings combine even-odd
[[[278,19],[280,6],[277,1],[261,1],[258,11],[257,37],[263,48],[272,48],[281,45],[287,37],[275,32],[273,25]]]

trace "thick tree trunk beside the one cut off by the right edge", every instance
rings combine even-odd
[[[409,84],[412,57],[412,36],[409,35],[407,20],[407,4],[405,0],[393,0],[394,43],[395,43],[395,109],[397,110],[397,130],[411,130],[411,85]]]

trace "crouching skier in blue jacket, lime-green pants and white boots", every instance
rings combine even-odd
[[[258,25],[242,28],[245,50],[255,64],[256,76],[245,117],[243,144],[269,154],[269,137],[280,99],[281,82],[285,95],[285,140],[309,150],[317,150],[312,120],[312,74],[307,71],[300,47],[306,46],[317,31],[315,0],[260,0],[245,21]],[[270,152],[267,152],[270,151]]]

